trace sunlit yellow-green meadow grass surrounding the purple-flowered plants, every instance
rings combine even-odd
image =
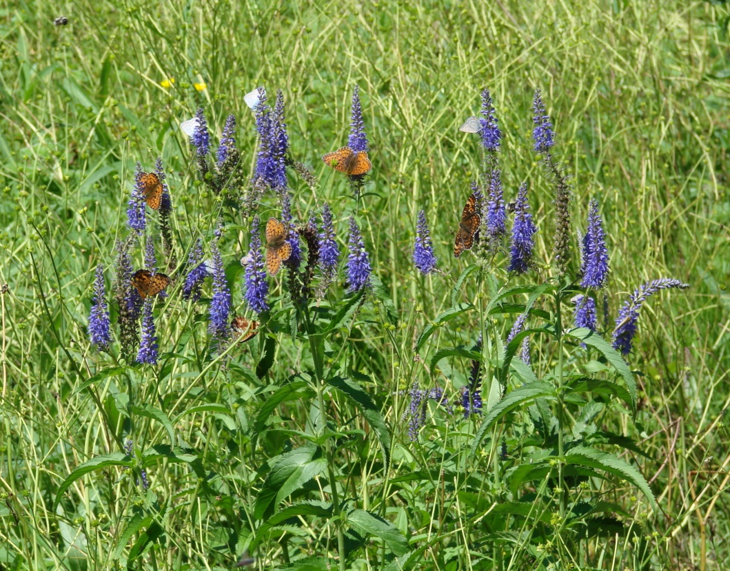
[[[68,25],[54,26],[58,16],[69,18]],[[450,306],[453,283],[472,261],[470,254],[455,260],[452,249],[469,184],[480,172],[480,148],[477,136],[458,127],[480,109],[483,88],[493,96],[504,133],[507,200],[520,182],[529,182],[540,228],[537,276],[548,274],[553,212],[552,189],[531,148],[532,96],[541,88],[581,228],[589,198],[599,200],[611,256],[612,314],[645,281],[666,276],[691,284],[643,308],[629,357],[642,373],[637,422],[629,416],[610,421],[647,453],[625,456],[640,467],[661,508],[637,516],[642,531],[586,547],[580,561],[593,567],[568,556],[553,567],[532,567],[536,559],[527,551],[523,559],[493,567],[489,539],[470,545],[464,530],[473,524],[460,521],[452,506],[445,515],[452,518],[451,543],[411,568],[729,568],[730,438],[723,424],[730,403],[729,26],[730,7],[708,1],[79,0],[51,9],[47,2],[0,0],[0,283],[8,285],[0,296],[0,569],[108,570],[128,561],[140,570],[229,569],[247,545],[248,532],[231,521],[250,518],[246,506],[255,502],[266,454],[259,449],[255,456],[250,435],[237,435],[239,448],[231,448],[235,431],[212,413],[182,416],[174,431],[204,451],[201,473],[215,472],[228,492],[161,462],[148,470],[154,497],[110,467],[74,482],[60,505],[54,499],[74,468],[120,451],[81,387],[116,365],[90,346],[87,325],[96,265],[104,265],[109,287],[115,239],[126,236],[134,164],[149,171],[155,158],[164,159],[185,260],[197,236],[210,236],[205,213],[215,199],[196,182],[179,123],[202,106],[217,141],[234,113],[237,146],[253,168],[254,117],[243,96],[259,85],[272,100],[283,90],[292,155],[318,175],[314,190],[292,179],[293,210],[304,218],[329,201],[342,247],[354,201],[345,177],[321,155],[345,144],[350,98],[359,85],[373,163],[359,216],[374,273],[399,322],[388,327],[372,310],[350,332],[352,366],[384,403],[395,473],[432,467],[430,449],[419,447],[442,434],[425,433],[420,444],[410,443],[401,423],[404,399],[388,395],[414,378],[426,383],[427,373],[414,372],[415,340]],[[421,208],[445,272],[426,279],[411,263]],[[243,254],[223,252],[226,262]],[[234,303],[240,297],[234,291]],[[196,322],[204,339],[204,313],[191,308],[187,316],[159,321],[161,350],[185,349],[183,324]],[[470,345],[474,332],[469,319],[455,319],[440,332],[442,344]],[[281,343],[267,381],[272,384],[304,366],[296,343],[275,335]],[[234,361],[255,368],[256,347]],[[219,392],[230,396],[246,384],[235,371],[206,368],[204,351],[194,350],[185,367],[138,368],[131,382],[148,391],[155,384],[177,395],[192,391],[214,403],[225,401],[217,400]],[[468,363],[439,366],[441,386],[464,384]],[[96,389],[104,398],[127,387],[107,380]],[[241,405],[251,419],[261,402],[256,390],[244,391]],[[280,411],[279,421],[307,416],[307,403],[299,408]],[[138,446],[170,443],[160,424],[143,422],[147,441]],[[377,455],[376,443],[367,449]],[[413,548],[438,535],[428,523],[442,493],[438,482],[414,484],[409,497],[386,488],[382,470],[361,470],[348,484],[351,497],[387,504],[383,517],[414,540]],[[626,486],[614,500],[631,510],[634,495]],[[400,502],[422,502],[423,519],[399,510]],[[164,511],[161,506],[169,508],[164,517],[142,518],[145,524],[123,535],[133,514],[147,517]],[[304,526],[307,533],[294,528],[280,535],[294,537],[296,548],[288,553],[280,535],[272,536],[258,544],[254,568],[304,569],[286,565],[295,553],[327,552],[326,526]],[[139,542],[155,529],[164,532]],[[650,545],[642,567],[622,559],[642,542]],[[145,545],[136,559],[135,545]],[[352,568],[383,568],[378,557],[368,545]]]

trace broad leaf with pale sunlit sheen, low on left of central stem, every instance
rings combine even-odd
[[[276,463],[266,477],[264,486],[261,487],[261,492],[258,492],[256,498],[253,508],[255,518],[264,518],[272,503],[274,504],[274,510],[276,510],[277,505],[284,497],[299,489],[303,483],[307,483],[315,475],[326,470],[326,460],[323,458],[315,459],[317,452],[318,448],[316,446],[307,444],[294,448],[285,454],[280,454],[274,459]],[[334,482],[332,485],[334,485]],[[283,490],[286,492],[285,495],[283,495]]]

